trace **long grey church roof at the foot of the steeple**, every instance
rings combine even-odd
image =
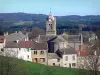
[[[67,34],[61,34],[61,35],[53,35],[53,36],[46,36],[46,35],[39,35],[35,40],[38,40],[39,42],[80,42],[80,35],[67,35]]]

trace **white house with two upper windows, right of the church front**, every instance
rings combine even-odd
[[[77,55],[74,49],[67,49],[62,56],[63,67],[77,68]]]

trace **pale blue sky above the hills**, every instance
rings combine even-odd
[[[0,13],[100,15],[100,0],[0,0]]]

